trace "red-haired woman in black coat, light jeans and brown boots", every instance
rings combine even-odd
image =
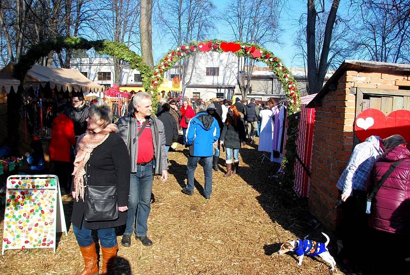
[[[245,123],[241,118],[235,105],[228,109],[228,116],[223,130],[219,138],[221,146],[224,146],[227,151],[227,173],[224,177],[229,177],[232,174],[238,173],[239,167],[239,149],[241,145],[245,145],[246,132]],[[232,168],[232,155],[234,157],[234,167]]]

